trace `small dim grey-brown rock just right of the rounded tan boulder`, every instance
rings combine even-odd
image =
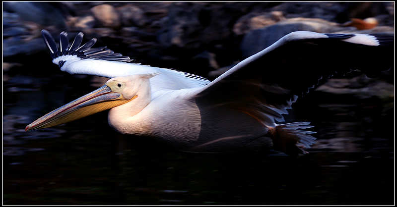
[[[143,26],[147,23],[147,18],[144,15],[145,12],[137,6],[127,4],[116,9],[120,14],[121,23],[124,26]]]

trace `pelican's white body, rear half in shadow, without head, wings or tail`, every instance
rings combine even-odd
[[[200,105],[195,96],[201,90],[161,90],[152,99],[150,84],[141,85],[135,100],[110,109],[109,125],[123,134],[159,137],[191,152],[271,147],[264,125],[240,111]]]

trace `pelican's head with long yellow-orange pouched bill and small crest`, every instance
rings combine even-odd
[[[142,90],[150,93],[150,85],[147,80],[155,75],[157,73],[109,79],[99,89],[63,105],[27,125],[25,131],[56,126],[131,102],[139,96],[139,92]]]

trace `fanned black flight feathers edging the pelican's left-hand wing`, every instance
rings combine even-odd
[[[65,31],[61,32],[60,51],[58,51],[57,44],[55,43],[55,40],[50,32],[43,29],[41,33],[53,59],[63,55],[77,55],[81,59],[95,58],[109,61],[132,61],[129,56],[123,56],[120,53],[115,53],[112,50],[107,49],[106,46],[101,48],[92,48],[92,46],[94,46],[94,44],[97,42],[96,38],[92,38],[80,47],[84,35],[82,32],[79,32],[76,35],[73,43],[70,45],[70,48],[68,48],[69,41],[67,39],[67,33]]]

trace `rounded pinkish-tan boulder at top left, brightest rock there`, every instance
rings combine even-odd
[[[116,9],[109,4],[101,4],[91,8],[95,19],[101,26],[117,28],[120,27],[120,16]]]

